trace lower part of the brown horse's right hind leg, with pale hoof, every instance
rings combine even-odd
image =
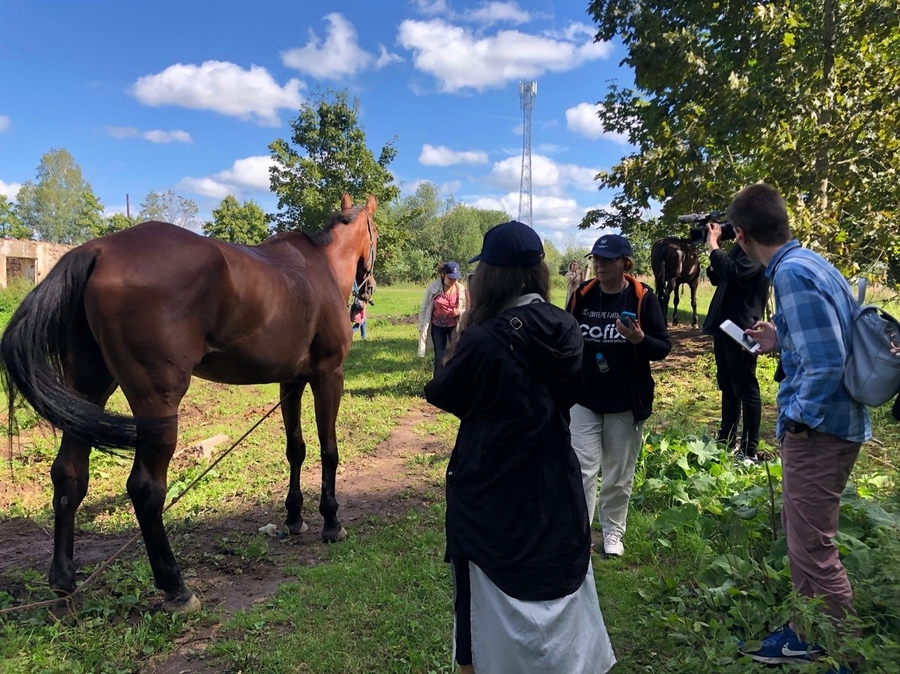
[[[127,488],[144,537],[154,583],[165,593],[166,610],[191,613],[200,609],[200,601],[184,584],[162,521],[166,473],[175,453],[177,435],[178,421],[174,414],[139,424],[134,465]]]

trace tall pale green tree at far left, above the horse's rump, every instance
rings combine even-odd
[[[41,157],[34,181],[22,185],[16,213],[44,241],[79,244],[94,236],[103,206],[65,149]]]

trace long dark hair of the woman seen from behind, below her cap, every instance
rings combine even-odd
[[[470,306],[460,320],[460,332],[496,316],[529,293],[550,301],[550,270],[543,260],[531,267],[492,267],[479,262],[469,283]]]

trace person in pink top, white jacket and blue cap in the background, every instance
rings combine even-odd
[[[434,371],[441,365],[459,317],[466,310],[466,289],[459,282],[459,264],[448,260],[438,267],[439,278],[425,290],[419,309],[419,357],[425,357],[428,334],[434,345]]]

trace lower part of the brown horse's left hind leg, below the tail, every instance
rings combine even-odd
[[[71,433],[63,433],[56,460],[50,468],[53,481],[53,561],[48,580],[60,596],[75,591],[75,511],[88,488],[91,446]]]

